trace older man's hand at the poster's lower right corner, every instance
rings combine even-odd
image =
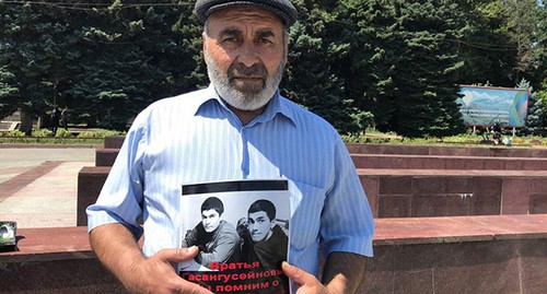
[[[283,262],[281,268],[292,281],[300,285],[296,293],[298,294],[341,294],[344,293],[344,277],[336,277],[330,281],[328,285],[324,285],[315,278],[315,275],[305,272],[304,270],[296,268],[294,266],[289,264],[288,262]],[[342,284],[340,284],[342,283]]]

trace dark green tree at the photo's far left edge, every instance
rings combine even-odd
[[[13,74],[9,86],[16,89],[4,110],[21,111],[21,131],[30,134],[32,120],[45,114],[62,95],[72,62],[67,47],[71,44],[63,15],[28,2],[1,3],[0,64]]]

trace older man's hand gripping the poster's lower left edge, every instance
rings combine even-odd
[[[137,260],[131,264],[129,277],[124,285],[131,293],[188,293],[206,294],[208,290],[188,282],[173,270],[174,263],[190,260],[199,249],[163,249],[148,259]]]

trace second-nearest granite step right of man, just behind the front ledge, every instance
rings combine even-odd
[[[547,213],[547,170],[358,169],[373,215]]]

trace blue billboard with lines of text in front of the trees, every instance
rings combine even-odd
[[[528,94],[526,89],[461,85],[456,103],[467,126],[524,127]]]

